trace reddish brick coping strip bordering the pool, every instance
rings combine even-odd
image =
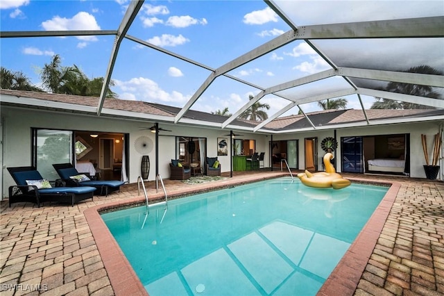
[[[276,176],[275,176],[276,177]],[[263,181],[265,179],[252,179],[244,180],[241,183],[236,184],[223,184],[219,186],[213,186],[208,190],[187,190],[187,192],[175,192],[169,195],[170,199],[191,195],[197,192],[220,190],[231,186],[240,186],[246,183],[252,183],[257,181]],[[352,242],[352,245],[345,252],[344,256],[339,261],[336,268],[327,278],[323,286],[318,291],[317,295],[353,295],[358,286],[361,275],[366,268],[368,260],[373,249],[377,243],[380,233],[387,220],[388,214],[391,211],[393,203],[395,202],[396,195],[401,187],[400,183],[396,181],[368,181],[366,179],[352,179],[357,183],[374,184],[379,186],[390,186],[386,195],[379,203],[373,214],[370,216],[364,228],[361,229],[357,238]],[[159,192],[152,195],[148,200],[150,202],[162,202],[164,199],[163,192]],[[137,197],[133,199],[127,199],[125,201],[110,202],[109,204],[102,204],[87,208],[83,213],[86,217],[89,228],[91,229],[94,240],[96,241],[97,249],[102,258],[105,270],[110,278],[111,286],[114,290],[114,294],[119,295],[149,295],[142,282],[137,277],[137,274],[130,265],[128,259],[121,251],[119,244],[114,239],[105,222],[101,218],[103,211],[110,210],[111,208],[125,208],[130,206],[137,206],[144,204],[145,199]]]

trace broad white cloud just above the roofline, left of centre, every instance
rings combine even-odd
[[[133,78],[129,81],[114,81],[115,86],[123,90],[119,94],[121,99],[135,99],[137,101],[150,101],[160,104],[174,104],[176,106],[185,103],[191,96],[185,96],[176,90],[167,92],[151,79],[144,77]]]

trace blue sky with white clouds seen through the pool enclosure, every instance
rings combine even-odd
[[[443,1],[276,2],[297,25],[434,16],[443,15],[444,10]],[[125,0],[2,0],[1,31],[115,30],[128,3]],[[128,34],[217,68],[289,29],[264,1],[145,1]],[[114,36],[3,38],[0,41],[1,66],[22,71],[38,84],[40,69],[54,54],[60,55],[62,65],[75,64],[89,78],[105,76]],[[393,44],[384,46],[391,48]],[[359,48],[362,44],[350,44],[349,47]],[[346,53],[347,48],[343,52]],[[436,59],[432,55],[434,66],[444,64],[442,56],[441,53]],[[420,60],[418,63],[424,62]],[[229,74],[268,87],[329,68],[305,42],[297,41]],[[209,74],[206,69],[131,40],[123,40],[112,74],[115,82],[112,90],[120,99],[181,107]],[[341,79],[328,79],[298,91],[309,92],[313,88],[340,90],[347,86]],[[219,77],[191,108],[212,112],[228,107],[234,112],[246,104],[248,94],[257,92],[256,88]],[[348,108],[360,108],[356,96],[346,99]],[[274,96],[266,96],[260,102],[271,106],[269,115],[289,104],[289,101]],[[364,97],[366,108],[372,102],[372,97]],[[306,112],[319,110],[316,104],[302,105],[302,108]],[[289,113],[297,112],[296,108]]]

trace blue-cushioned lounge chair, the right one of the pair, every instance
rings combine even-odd
[[[84,178],[85,175],[80,174],[71,163],[58,163],[54,164],[53,167],[62,181],[66,182],[67,186],[91,186],[96,188],[94,195],[108,196],[109,193],[120,190],[120,186],[125,183],[123,181],[90,180],[89,178]]]

